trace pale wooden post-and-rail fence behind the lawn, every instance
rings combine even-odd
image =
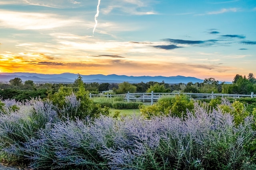
[[[190,97],[190,99],[194,100],[200,100],[200,99],[214,99],[218,96],[226,96],[226,97],[232,97],[232,98],[242,98],[242,97],[250,97],[255,98],[256,94],[251,92],[251,94],[221,94],[221,93],[154,93],[153,91],[151,93],[126,93],[126,94],[91,94],[90,98],[93,97],[106,97],[106,98],[112,98],[112,97],[121,97],[124,98],[125,101],[131,102],[131,101],[137,101],[137,102],[150,102],[151,105],[156,102],[159,98],[163,96],[175,96],[185,94]]]

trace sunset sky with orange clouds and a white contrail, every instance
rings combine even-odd
[[[256,0],[0,0],[0,73],[256,74]]]

